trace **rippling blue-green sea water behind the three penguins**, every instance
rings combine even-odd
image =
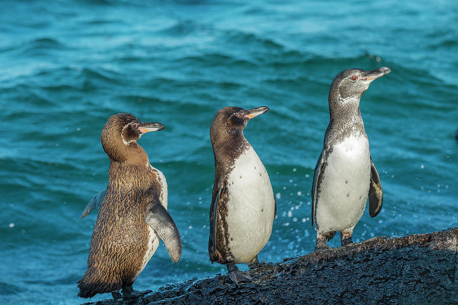
[[[165,125],[138,143],[183,241],[177,264],[161,242],[135,289],[226,272],[207,252],[224,106],[270,107],[245,129],[277,198],[260,260],[312,252],[313,170],[347,68],[392,71],[360,103],[384,203],[353,240],[458,226],[456,1],[3,1],[0,18],[2,303],[83,302],[97,212],[80,215],[106,186],[100,132],[119,112]]]

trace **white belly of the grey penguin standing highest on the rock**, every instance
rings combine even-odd
[[[352,135],[334,146],[322,173],[318,197],[319,233],[350,229],[366,206],[370,181],[369,142]]]

